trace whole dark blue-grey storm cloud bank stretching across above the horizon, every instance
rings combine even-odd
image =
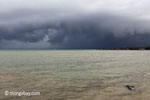
[[[17,41],[43,41],[50,44],[47,48],[109,48],[150,44],[150,33],[142,22],[109,14],[80,16],[43,25],[27,24],[13,29],[1,27],[0,30],[0,40],[7,40],[7,44],[8,41],[10,44],[16,41],[15,45],[19,44]]]

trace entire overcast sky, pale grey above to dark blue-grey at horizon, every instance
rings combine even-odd
[[[149,0],[0,0],[0,49],[150,46]]]

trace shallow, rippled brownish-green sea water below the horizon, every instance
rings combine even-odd
[[[0,51],[0,100],[149,100],[149,84],[150,51]]]

